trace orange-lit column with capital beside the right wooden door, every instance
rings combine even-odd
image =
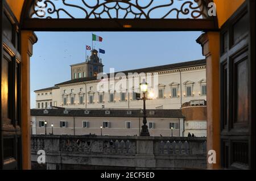
[[[207,152],[216,151],[216,163],[207,162],[207,168],[220,169],[220,33],[204,33],[197,43],[207,61]]]

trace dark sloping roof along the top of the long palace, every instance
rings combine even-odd
[[[142,68],[142,69],[125,70],[125,71],[119,71],[119,72],[125,73],[126,75],[128,73],[138,73],[138,74],[139,73],[151,73],[151,72],[156,72],[156,71],[181,69],[181,68],[188,68],[188,67],[192,67],[192,66],[201,66],[201,65],[206,65],[206,60],[205,59],[188,61],[188,62],[180,62],[180,63],[177,63],[177,64],[152,66],[152,67],[149,67],[149,68]],[[118,72],[115,72],[115,74],[117,74],[117,73]],[[108,74],[108,77],[109,77],[109,74]],[[76,79],[72,79],[72,80],[69,80],[69,81],[57,83],[55,86],[67,85],[69,83],[94,81],[96,79],[97,79],[97,77],[76,78]]]

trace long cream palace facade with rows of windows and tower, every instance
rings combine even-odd
[[[71,65],[71,80],[36,90],[36,108],[141,109],[143,101],[137,98],[142,79],[150,82],[147,109],[180,109],[191,100],[207,99],[205,60],[126,70],[97,79],[104,66],[97,53],[92,50],[85,62]]]

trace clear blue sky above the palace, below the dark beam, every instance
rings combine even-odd
[[[104,72],[173,64],[204,58],[196,43],[201,32],[93,32],[103,37],[94,43],[101,54]],[[92,32],[36,32],[38,43],[31,57],[31,108],[34,90],[71,79],[71,64],[85,61],[85,45],[92,46]],[[87,51],[89,55],[90,52]]]

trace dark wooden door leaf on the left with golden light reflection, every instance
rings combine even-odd
[[[1,169],[21,169],[20,36],[18,22],[1,1]]]

